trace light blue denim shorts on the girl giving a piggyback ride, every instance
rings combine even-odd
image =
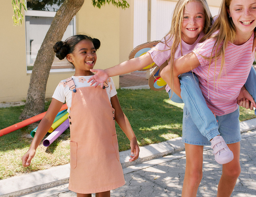
[[[230,114],[216,116],[220,135],[227,144],[233,144],[241,141],[239,107]],[[183,130],[182,142],[193,145],[207,146],[211,142],[201,134],[191,119],[187,108],[183,107]]]

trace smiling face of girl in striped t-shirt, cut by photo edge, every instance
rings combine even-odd
[[[231,0],[227,12],[235,25],[237,38],[247,41],[256,27],[256,0]]]

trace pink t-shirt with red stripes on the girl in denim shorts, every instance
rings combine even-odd
[[[209,69],[209,61],[202,57],[211,57],[215,40],[208,39],[203,43],[198,43],[193,50],[200,62],[200,66],[195,68],[193,72],[198,76],[199,86],[208,107],[217,116],[232,113],[238,108],[236,99],[247,80],[255,59],[255,49],[252,52],[253,41],[254,33],[242,45],[228,43],[225,50],[225,65],[218,81],[218,89],[217,79],[220,71],[221,58],[217,60],[215,70],[215,60],[212,61]],[[215,52],[213,55],[215,55]]]

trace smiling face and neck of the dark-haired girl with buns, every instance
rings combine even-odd
[[[76,44],[73,53],[67,55],[67,60],[75,67],[74,76],[93,75],[90,69],[93,69],[97,55],[92,41],[82,40]]]

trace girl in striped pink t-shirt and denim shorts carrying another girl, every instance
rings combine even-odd
[[[249,73],[255,73],[251,70],[255,60],[255,28],[256,0],[223,0],[219,17],[203,42],[197,44],[191,53],[175,60],[173,68],[168,65],[162,70],[165,73],[171,70],[173,78],[167,83],[178,96],[183,92],[179,75],[193,70],[208,107],[216,114],[219,132],[233,152],[234,159],[222,165],[217,197],[231,196],[241,171],[241,134],[236,99]],[[198,131],[186,106],[183,138],[186,140],[186,170],[182,196],[196,197],[202,179],[203,144],[207,141]]]

